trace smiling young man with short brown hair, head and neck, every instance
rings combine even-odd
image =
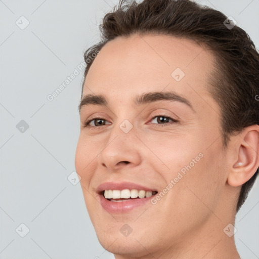
[[[124,2],[84,56],[75,166],[98,239],[116,259],[240,258],[235,215],[259,166],[259,55],[218,11]]]

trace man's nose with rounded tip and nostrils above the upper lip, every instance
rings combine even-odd
[[[98,164],[111,170],[134,167],[141,163],[139,140],[133,133],[118,128],[110,135],[104,149],[98,155]]]

